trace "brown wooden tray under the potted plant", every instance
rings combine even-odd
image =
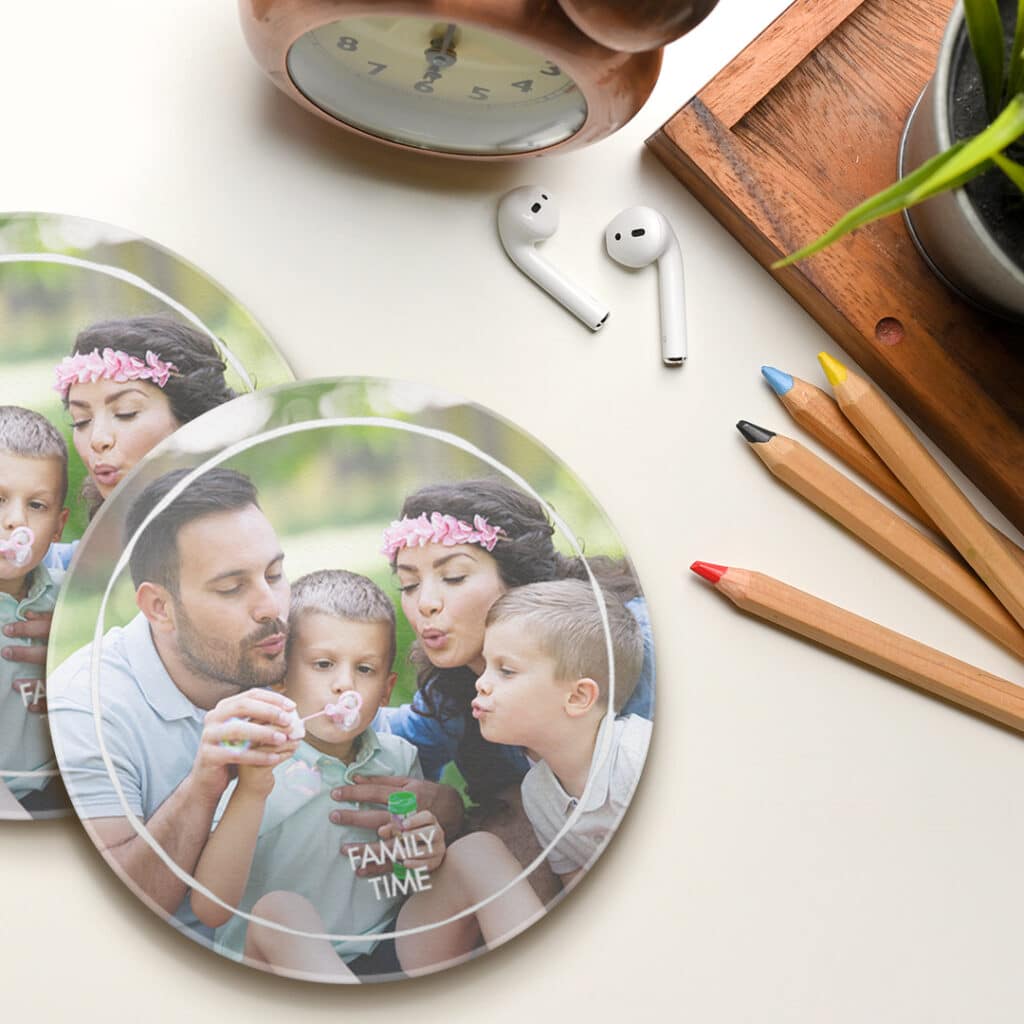
[[[796,0],[647,144],[767,266],[895,180],[952,6]],[[1024,328],[940,285],[899,216],[772,272],[1024,529]]]

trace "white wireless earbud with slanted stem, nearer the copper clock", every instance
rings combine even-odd
[[[598,331],[608,318],[607,306],[563,278],[535,248],[557,229],[558,203],[546,188],[513,188],[498,204],[498,233],[509,259],[591,331]]]

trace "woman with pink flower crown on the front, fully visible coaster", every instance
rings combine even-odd
[[[499,479],[424,487],[406,500],[401,518],[384,535],[401,608],[417,637],[412,657],[419,677],[413,702],[385,709],[375,727],[415,743],[428,779],[439,778],[454,761],[477,805],[472,824],[498,833],[523,864],[540,853],[519,797],[529,762],[520,748],[483,739],[470,709],[484,668],[490,605],[525,584],[588,580],[589,566],[605,591],[626,602],[644,635],[641,678],[621,714],[650,718],[653,702],[650,624],[631,567],[603,557],[588,558],[586,564],[565,557],[555,550],[553,535],[541,505]],[[358,800],[358,790],[346,787],[344,799]],[[547,871],[534,871],[531,881],[546,889],[542,896],[557,889]]]

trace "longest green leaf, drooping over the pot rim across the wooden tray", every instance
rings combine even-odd
[[[841,217],[820,238],[772,263],[788,266],[820,252],[826,246],[874,220],[916,205],[950,188],[958,188],[992,166],[995,154],[1024,134],[1024,94],[1014,96],[1006,110],[974,138],[956,142],[945,153],[926,160],[916,170],[883,189]]]

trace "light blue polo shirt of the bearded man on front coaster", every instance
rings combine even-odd
[[[82,818],[123,818],[127,805],[148,821],[191,770],[206,712],[168,675],[142,614],[106,633],[99,669],[100,725],[124,793],[123,805],[96,737],[91,656],[89,644],[59,666],[47,683],[50,729],[65,784]],[[174,916],[201,934],[211,934],[199,924],[187,897]]]

